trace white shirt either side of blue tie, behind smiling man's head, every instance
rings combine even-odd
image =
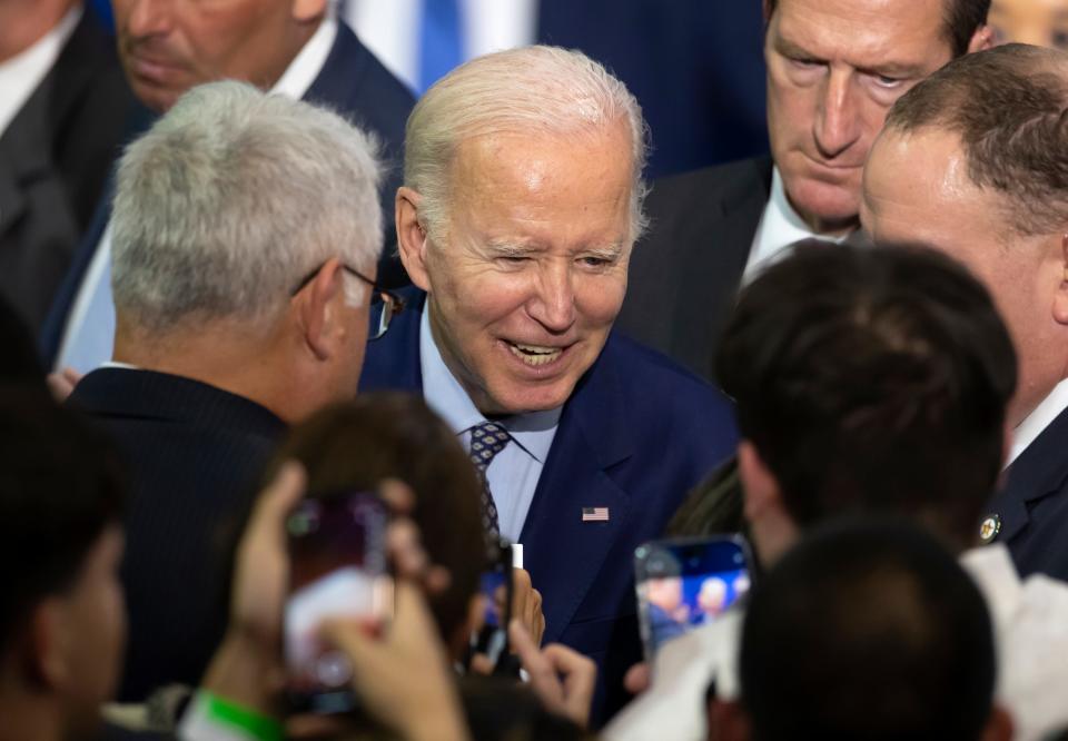
[[[537,0],[457,0],[464,60],[534,43]],[[419,89],[423,0],[346,0],[345,20],[396,77]]]

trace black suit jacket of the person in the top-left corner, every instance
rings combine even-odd
[[[0,295],[40,332],[118,155],[132,95],[86,8],[0,137]]]

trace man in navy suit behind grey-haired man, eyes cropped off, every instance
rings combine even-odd
[[[166,111],[200,82],[246,80],[338,110],[379,138],[387,162],[399,160],[412,93],[334,18],[328,0],[115,0],[113,6],[127,77],[152,110]],[[386,172],[380,195],[392,225],[398,169]],[[50,367],[86,373],[111,355],[108,216],[101,209],[82,240],[42,332]],[[405,281],[389,255],[382,271],[386,284]]]

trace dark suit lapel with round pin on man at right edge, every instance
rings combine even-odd
[[[1009,466],[1005,487],[990,502],[990,512],[1001,518],[998,541],[1007,543],[1030,522],[1028,505],[1060,491],[1068,478],[1064,463],[1068,442],[1068,409],[1060,413]]]

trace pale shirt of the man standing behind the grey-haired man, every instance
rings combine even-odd
[[[337,38],[337,20],[332,16],[304,45],[289,67],[270,89],[270,92],[300,99],[323,71]],[[115,348],[115,305],[110,295],[111,280],[111,223],[103,230],[97,251],[92,255],[81,286],[71,305],[70,316],[63,329],[56,356],[56,370],[71,367],[78,373],[89,373],[111,357]],[[101,293],[106,293],[103,296]],[[101,306],[107,303],[110,306]],[[86,322],[92,316],[95,326],[86,330]]]

